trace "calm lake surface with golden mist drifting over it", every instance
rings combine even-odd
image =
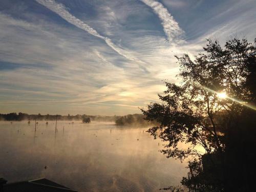
[[[167,159],[147,127],[69,121],[0,122],[0,177],[45,177],[78,191],[159,191],[179,184],[186,163]],[[64,131],[63,131],[64,126]]]

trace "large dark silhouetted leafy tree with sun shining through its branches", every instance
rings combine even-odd
[[[187,54],[176,56],[181,82],[165,82],[162,102],[142,112],[159,123],[148,132],[167,141],[161,151],[167,158],[190,158],[184,185],[199,191],[247,191],[252,175],[246,161],[255,147],[256,48],[246,39],[233,38],[224,49],[218,41],[207,41],[194,61]],[[239,151],[243,147],[246,153]],[[246,160],[234,160],[241,156]],[[240,185],[233,185],[239,179]]]

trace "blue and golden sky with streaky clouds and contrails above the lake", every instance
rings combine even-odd
[[[0,0],[0,113],[140,113],[174,55],[231,37],[256,37],[255,0]]]

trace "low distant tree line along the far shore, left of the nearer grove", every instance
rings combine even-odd
[[[107,122],[115,122],[116,119],[121,116],[101,116],[101,115],[57,115],[58,120],[67,120],[67,121],[79,121],[85,118],[90,118],[92,121],[107,121]],[[0,120],[2,121],[22,121],[22,120],[56,120],[56,115],[41,115],[40,113],[37,115],[29,115],[26,113],[8,113],[8,114],[0,114]]]

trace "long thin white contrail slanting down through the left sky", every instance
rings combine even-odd
[[[62,5],[60,3],[56,3],[54,0],[36,0],[36,1],[39,4],[44,5],[48,9],[50,9],[53,12],[55,12],[56,14],[58,14],[60,17],[65,19],[70,24],[72,24],[84,31],[87,31],[88,33],[90,33],[91,35],[93,35],[95,37],[99,37],[99,38],[103,39],[106,42],[106,44],[109,47],[111,47],[113,50],[115,50],[119,55],[125,57],[126,59],[132,60],[132,61],[140,61],[139,59],[133,57],[126,50],[116,46],[110,38],[100,35],[95,29],[93,29],[92,27],[90,27],[89,25],[84,23],[82,20],[76,18],[74,15],[72,15],[67,10],[67,8],[64,5]]]

